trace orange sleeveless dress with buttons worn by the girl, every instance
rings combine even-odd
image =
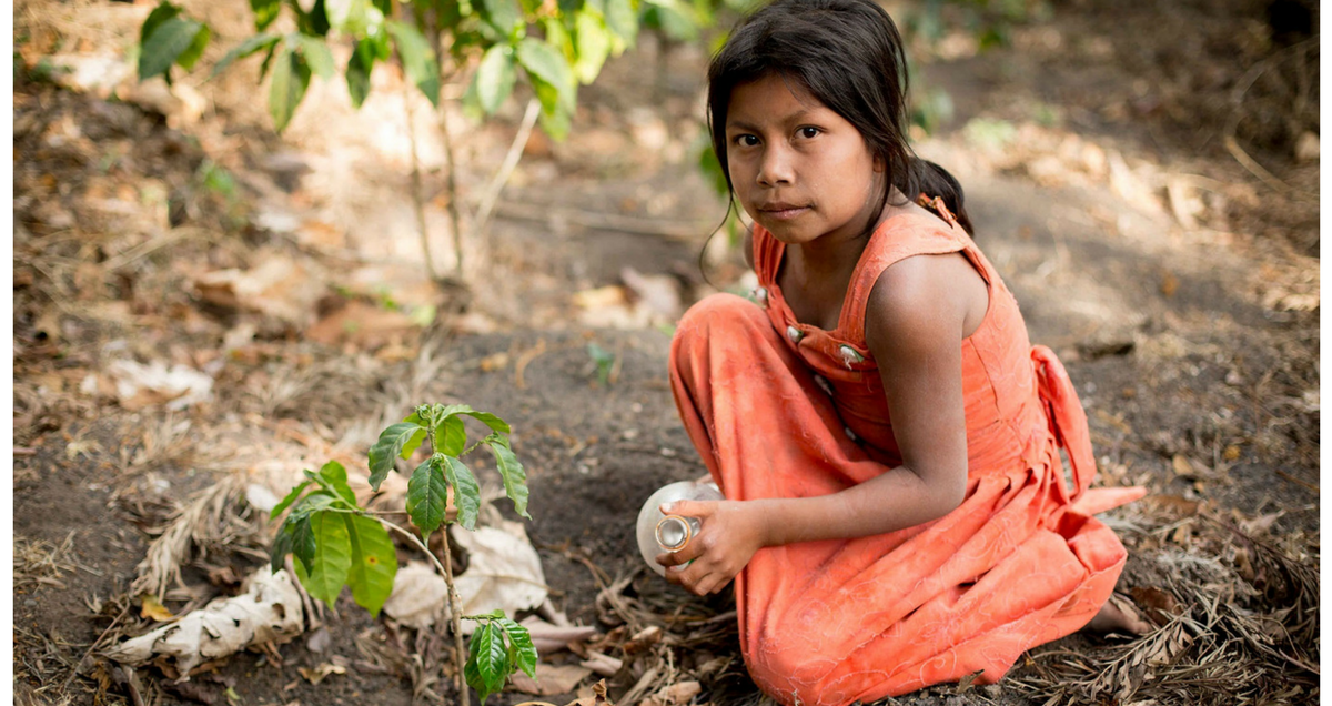
[[[777,285],[785,244],[761,226],[758,304],[714,294],[677,326],[675,404],[726,497],[821,496],[902,464],[864,342],[879,274],[962,252],[988,284],[986,316],[962,342],[962,505],[888,534],[765,547],[735,577],[745,663],[787,705],[871,702],[975,673],[992,683],[1024,650],[1082,629],[1124,566],[1119,538],[1092,514],[1143,489],[1088,490],[1087,418],[1063,365],[1032,348],[1012,294],[940,212],[874,232],[835,330],[795,320]]]

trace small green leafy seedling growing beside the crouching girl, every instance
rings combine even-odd
[[[462,417],[485,424],[490,434],[469,446]],[[462,675],[477,690],[482,703],[503,689],[509,677],[519,669],[535,677],[537,649],[527,629],[503,611],[462,615],[462,599],[453,585],[453,567],[428,549],[428,541],[430,533],[442,525],[457,522],[465,529],[476,529],[481,486],[460,458],[478,446],[486,446],[494,454],[505,494],[513,501],[514,510],[531,518],[527,514],[527,476],[509,448],[509,430],[500,417],[468,405],[421,405],[380,434],[369,453],[370,486],[374,490],[393,470],[397,458],[409,458],[424,442],[430,444],[430,457],[417,466],[408,481],[408,517],[421,530],[422,538],[361,508],[346,482],[346,469],[337,461],[329,461],[318,473],[306,470],[306,480],[293,488],[272,513],[277,517],[288,508],[292,510],[273,542],[273,570],[278,570],[285,557],[292,554],[301,585],[328,605],[337,601],[342,586],[350,586],[357,605],[372,615],[380,614],[393,591],[398,570],[389,530],[402,534],[425,551],[449,586],[450,627],[460,658],[464,654],[461,621],[466,618],[481,623],[472,633],[470,654]],[[457,505],[456,518],[448,517],[450,496]],[[444,533],[444,542],[448,555],[448,531]],[[461,703],[468,706],[466,686],[458,685],[458,691]]]

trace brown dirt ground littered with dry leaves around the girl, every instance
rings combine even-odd
[[[646,575],[631,534],[655,488],[703,473],[670,396],[671,322],[709,292],[749,286],[722,236],[699,272],[725,213],[694,167],[705,53],[645,36],[581,91],[567,141],[527,143],[489,236],[466,242],[473,293],[458,313],[421,265],[409,121],[448,270],[444,156],[401,77],[376,73],[358,113],[341,85],[316,83],[276,137],[253,63],[204,81],[244,36],[245,3],[185,4],[221,39],[180,81],[184,100],[112,99],[59,68],[115,65],[148,5],[15,8],[20,702],[454,702],[445,641],[372,619],[346,594],[318,639],[189,682],[141,667],[131,687],[100,658],[156,625],[129,586],[196,493],[236,474],[281,493],[329,458],[364,478],[378,430],[441,401],[513,424],[551,602],[622,659],[613,699],[675,703],[671,686],[698,682],[693,703],[758,703],[727,598]],[[916,89],[952,103],[918,151],[960,180],[1032,341],[1066,361],[1099,482],[1150,489],[1107,522],[1130,549],[1119,587],[1160,629],[1072,635],[999,685],[888,703],[1317,702],[1319,44],[1268,8],[1078,0],[1007,47],[978,52],[963,31],[912,43]],[[469,208],[521,108],[485,125],[448,113]],[[438,316],[422,326],[421,312]],[[201,385],[197,398],[144,382],[168,373]],[[166,593],[170,611],[234,594],[262,561],[261,513],[230,512],[229,533],[200,539]],[[651,626],[667,638],[634,653]],[[342,671],[305,675],[321,665]],[[494,702],[567,703],[594,679]]]

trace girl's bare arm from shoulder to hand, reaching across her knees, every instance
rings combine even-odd
[[[979,297],[979,298],[978,298]],[[690,546],[662,554],[667,578],[721,590],[763,546],[882,534],[952,512],[967,488],[962,340],[979,325],[986,285],[960,254],[906,258],[870,294],[866,341],[879,364],[902,465],[839,493],[810,498],[677,502],[703,518]],[[979,310],[978,310],[979,305]]]

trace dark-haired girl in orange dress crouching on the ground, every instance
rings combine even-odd
[[[1078,396],[972,242],[962,188],[906,139],[902,40],[872,0],[778,0],[709,69],[713,147],[754,220],[758,304],[681,320],[675,402],[726,501],[667,578],[735,579],[745,662],[783,703],[980,673],[1092,622],[1124,547],[1094,513]],[[1060,449],[1072,466],[1066,485]]]

